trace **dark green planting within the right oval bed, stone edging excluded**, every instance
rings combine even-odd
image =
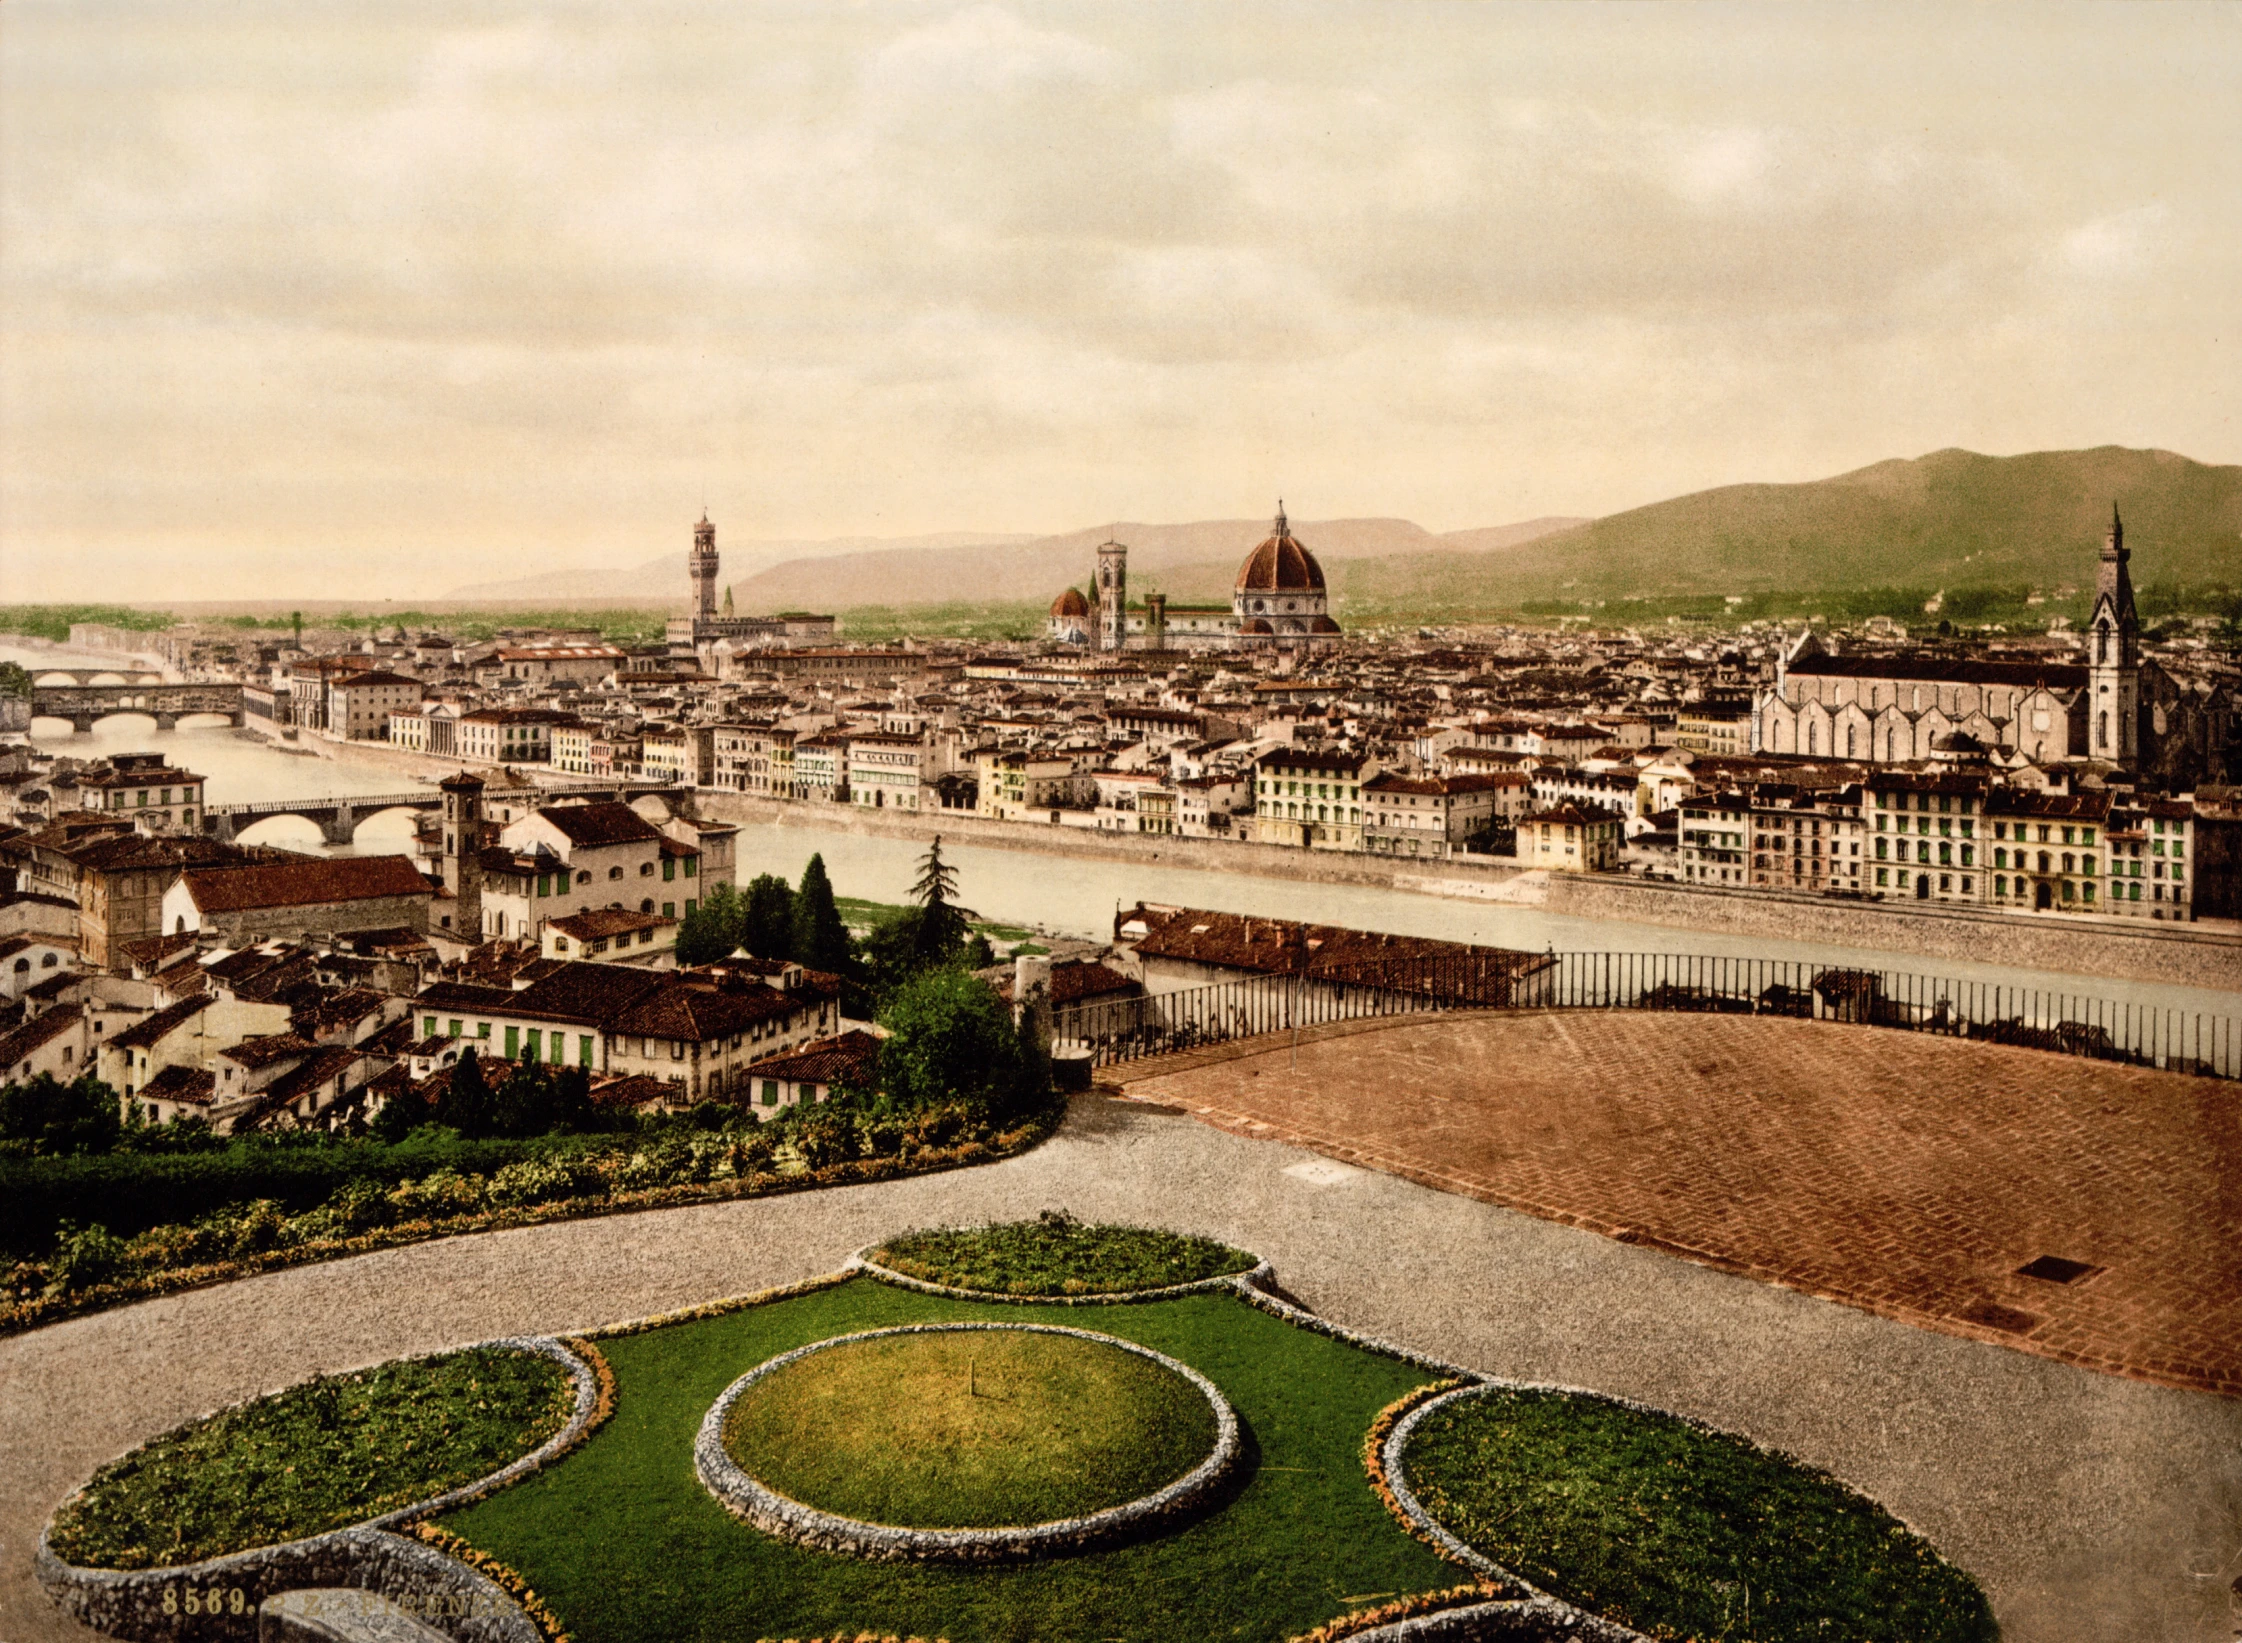
[[[1426,1405],[1401,1475],[1473,1551],[1655,1639],[1991,1643],[1984,1591],[1827,1473],[1610,1399]]]

